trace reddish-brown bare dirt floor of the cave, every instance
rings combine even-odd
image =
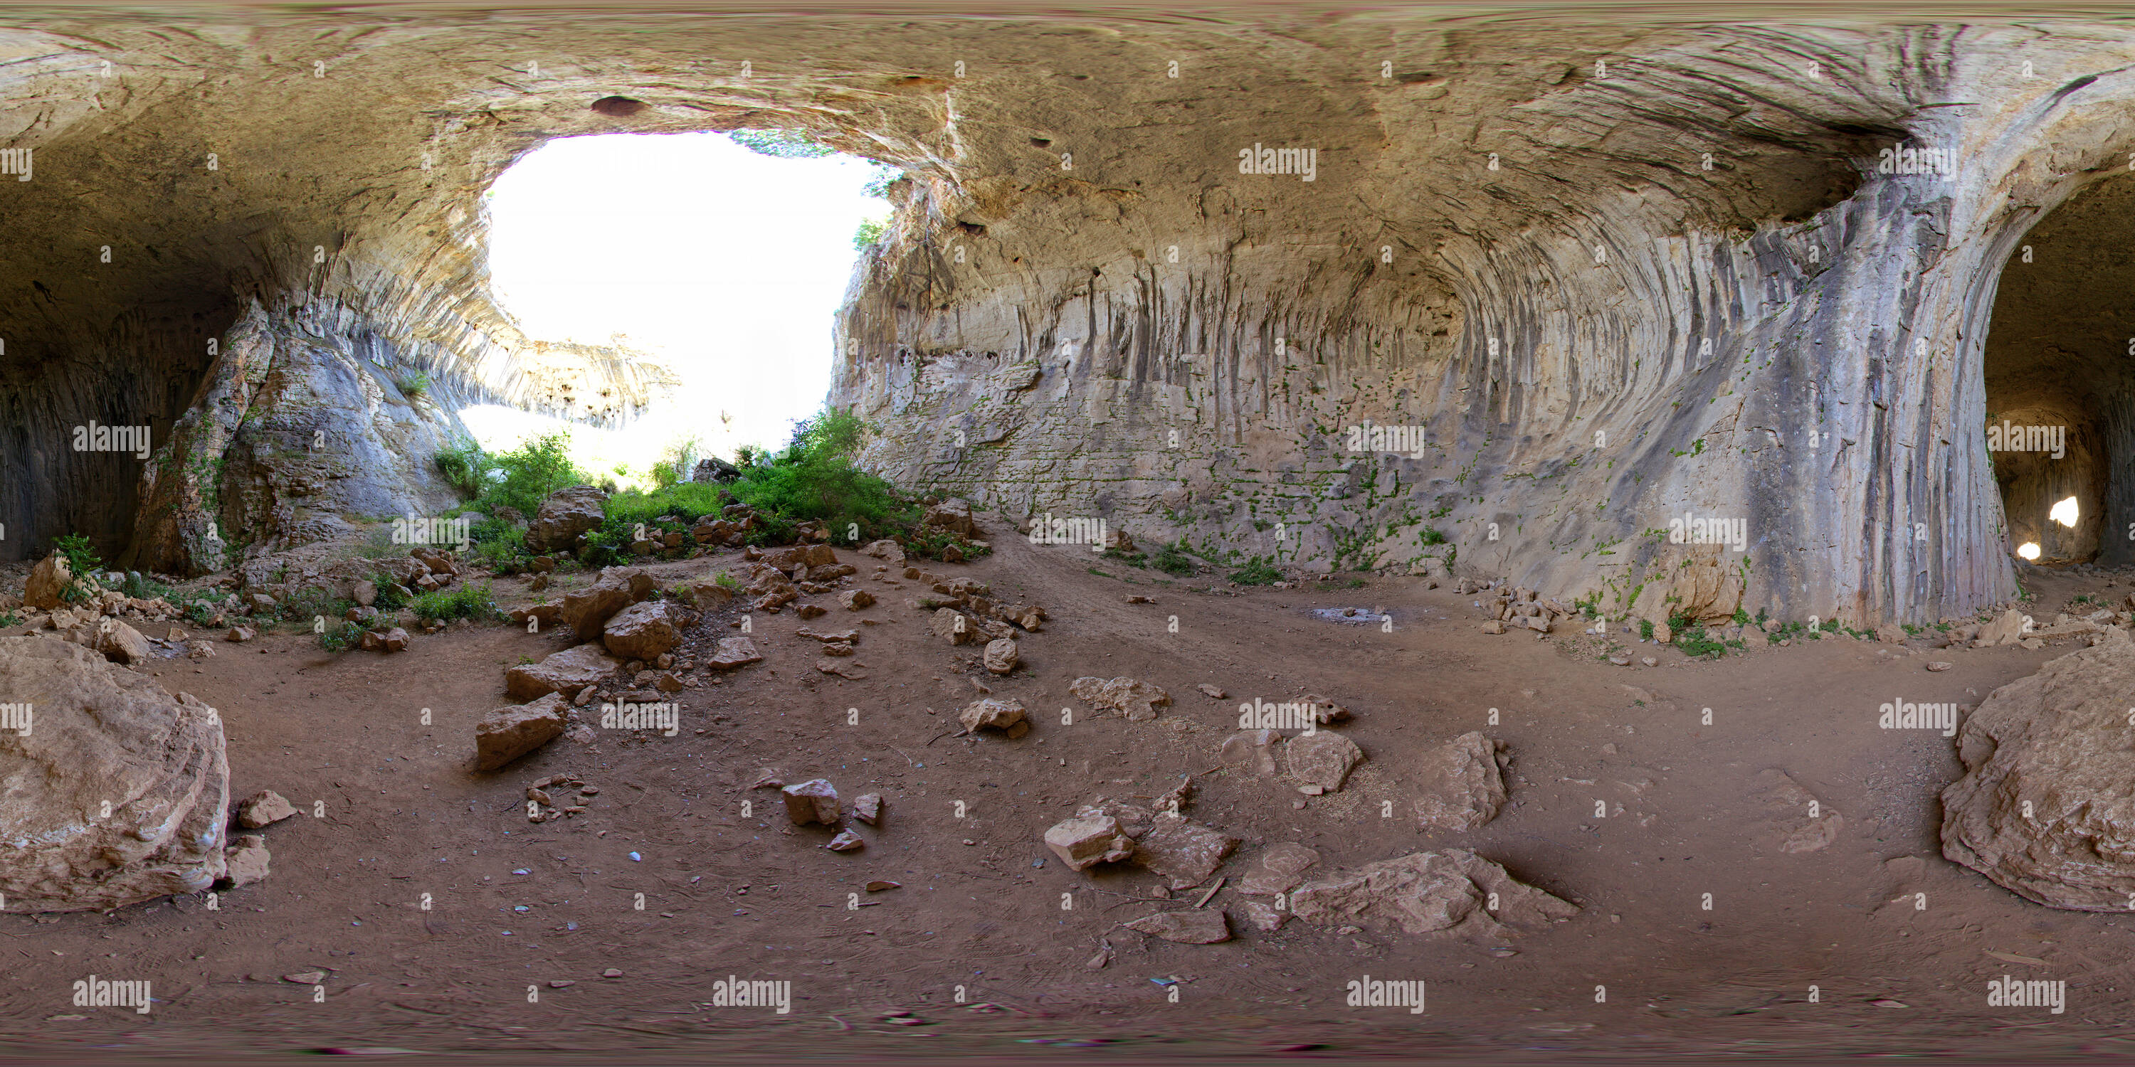
[[[591,745],[559,738],[493,775],[474,773],[474,721],[508,704],[508,666],[570,647],[568,632],[476,627],[418,636],[399,655],[329,655],[310,636],[271,636],[152,668],[222,711],[233,798],[275,790],[301,815],[265,830],[271,877],[222,894],[218,911],[186,896],[0,915],[0,954],[13,960],[0,1056],[2135,1050],[2120,1037],[2135,1001],[2129,918],[2030,905],[1943,860],[1936,794],[1960,773],[1951,740],[1877,728],[1881,702],[1977,704],[2071,642],[1757,642],[1723,662],[1638,647],[1659,666],[1618,668],[1591,636],[1482,634],[1475,598],[1420,578],[1206,591],[1223,583],[1174,583],[1010,536],[978,563],[929,566],[1050,612],[1023,640],[1025,670],[1001,679],[978,666],[978,647],[927,634],[910,606],[918,583],[888,587],[867,578],[875,561],[839,555],[882,604],[813,623],[752,617],[764,662],[685,689],[677,736],[600,730]],[[722,566],[732,559],[655,572],[668,583]],[[2050,615],[2077,591],[2116,602],[2131,583],[2052,574],[2035,595]],[[523,578],[500,578],[497,591],[506,606],[536,600]],[[1386,612],[1392,632],[1311,615],[1326,606]],[[709,617],[690,649],[734,634],[739,617]],[[818,672],[818,644],[792,634],[863,619],[877,625],[860,627],[845,659],[860,681]],[[1928,672],[1930,659],[1956,666]],[[1085,674],[1151,681],[1172,704],[1140,723],[1089,715],[1068,694]],[[952,736],[982,687],[1023,700],[1035,728],[1014,740]],[[1300,694],[1356,711],[1341,730],[1366,762],[1341,792],[1307,798],[1221,768],[1238,702]],[[1059,708],[1074,708],[1072,726]],[[1411,766],[1469,730],[1507,743],[1512,800],[1482,830],[1424,834],[1409,815]],[[760,768],[826,777],[845,798],[880,792],[882,826],[856,826],[863,851],[826,851],[828,828],[790,826],[775,792],[747,790]],[[1800,813],[1764,792],[1768,768],[1819,800],[1832,819],[1819,830],[1836,826],[1830,845],[1781,851]],[[551,775],[598,794],[583,815],[529,824],[525,790]],[[1146,901],[1159,879],[1138,869],[1072,873],[1040,834],[1097,796],[1146,802],[1187,775],[1185,815],[1243,839],[1221,871],[1232,886],[1279,841],[1317,849],[1322,873],[1473,847],[1580,913],[1503,941],[1296,920],[1255,933],[1236,911],[1228,943],[1146,939],[1119,924],[1196,894]],[[865,892],[869,879],[901,888]],[[1232,886],[1206,907],[1236,907]],[[1091,969],[1104,943],[1114,954]],[[303,971],[327,977],[318,988],[282,977]],[[73,982],[90,973],[152,980],[152,1014],[73,1007]],[[711,986],[728,975],[792,982],[792,1012],[713,1007]],[[1426,1012],[1347,1007],[1345,984],[1364,975],[1424,980]],[[2067,1012],[1988,1007],[1986,982],[2000,975],[2065,980]]]

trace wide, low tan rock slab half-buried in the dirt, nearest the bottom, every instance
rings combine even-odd
[[[1490,898],[1497,896],[1492,911]],[[1456,926],[1501,933],[1501,924],[1541,926],[1578,907],[1514,881],[1503,866],[1469,849],[1416,851],[1298,886],[1290,911],[1315,924],[1377,922],[1403,933]]]

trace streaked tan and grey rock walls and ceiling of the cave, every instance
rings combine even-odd
[[[0,139],[36,160],[0,235],[9,555],[73,529],[199,572],[448,501],[429,452],[461,405],[630,418],[673,378],[525,337],[480,194],[555,137],[730,128],[903,169],[831,401],[882,427],[867,465],[982,527],[1283,523],[1298,568],[1847,625],[2007,600],[2011,536],[2135,551],[2099,540],[2135,521],[2109,476],[2135,463],[2109,359],[2135,179],[2094,107],[2126,92],[2116,23],[173,13],[0,36]],[[2015,51],[2041,77],[2011,83]],[[318,64],[297,98],[292,55]],[[2065,425],[2067,457],[1996,465],[1990,412]],[[147,450],[70,448],[90,423]],[[2050,529],[2056,493],[2094,506]]]

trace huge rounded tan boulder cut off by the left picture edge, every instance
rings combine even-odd
[[[216,708],[51,638],[0,638],[0,694],[32,711],[28,734],[0,730],[9,911],[111,909],[222,877]]]

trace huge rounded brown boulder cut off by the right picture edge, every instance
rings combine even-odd
[[[1943,856],[2047,907],[2126,911],[2135,894],[2135,642],[2047,662],[1988,694],[1958,730]]]

